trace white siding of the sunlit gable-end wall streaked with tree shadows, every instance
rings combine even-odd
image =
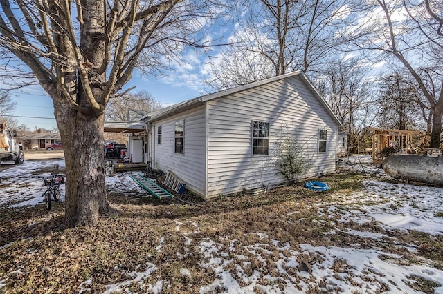
[[[251,156],[251,120],[269,123],[269,155]],[[208,101],[208,191],[206,197],[284,182],[275,168],[276,143],[293,136],[311,158],[307,175],[335,170],[335,150],[318,153],[318,129],[336,146],[337,124],[298,77]]]

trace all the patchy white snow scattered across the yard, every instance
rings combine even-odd
[[[364,168],[368,173],[379,175],[379,180],[365,180],[359,191],[337,193],[333,195],[332,203],[316,204],[320,215],[327,214],[332,224],[375,222],[384,231],[400,228],[405,232],[417,230],[433,235],[443,233],[443,188],[383,182],[383,179],[389,177],[383,170],[370,166],[368,157],[361,158],[363,167],[356,164],[359,162],[356,157],[346,159],[341,168]],[[62,167],[64,160],[25,161],[22,166],[1,171],[3,182],[0,184],[0,206],[43,204],[40,203],[45,190],[42,177],[51,173],[34,175],[33,171],[51,168],[54,164]],[[107,177],[109,190],[139,193],[140,188],[128,175],[119,173]],[[226,245],[226,239],[210,238],[195,244],[190,236],[196,232],[183,231],[181,225],[182,222],[177,222],[176,231],[183,234],[185,252],[190,254],[194,250],[202,253],[204,259],[197,262],[204,268],[210,268],[216,276],[212,284],[201,285],[200,293],[305,293],[316,286],[321,291],[338,293],[420,293],[410,286],[414,284],[413,277],[435,282],[435,285],[440,286],[435,286],[434,293],[443,293],[443,271],[433,268],[433,263],[426,259],[422,259],[421,264],[405,265],[399,255],[383,252],[380,248],[361,248],[360,244],[349,244],[349,248],[300,244],[294,248],[279,240],[269,239],[260,232],[253,233],[260,237],[260,243],[254,245],[244,246],[235,239],[228,240]],[[383,233],[351,228],[345,228],[344,231],[363,238],[389,239]],[[161,251],[163,239],[158,242],[159,246],[155,250]],[[253,256],[261,265],[252,266],[248,256]],[[156,265],[141,264],[139,268],[141,271],[130,273],[127,281],[107,285],[105,293],[128,292],[132,283],[140,284],[151,292],[161,293],[168,281],[144,284],[146,277],[155,275]],[[187,268],[181,268],[180,273],[192,276]],[[87,291],[89,284],[91,280],[80,284],[80,293]],[[2,286],[0,279],[0,288]]]

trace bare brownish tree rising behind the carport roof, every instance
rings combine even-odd
[[[111,97],[106,109],[106,119],[111,121],[130,121],[132,116],[128,117],[128,112],[136,112],[138,117],[146,115],[147,112],[158,110],[162,107],[161,102],[146,90],[126,93],[121,96]]]

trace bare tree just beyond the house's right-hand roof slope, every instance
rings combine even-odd
[[[347,141],[351,152],[356,152],[359,137],[374,124],[373,84],[368,77],[369,68],[357,59],[331,61],[325,66],[317,86],[344,130],[350,135]]]

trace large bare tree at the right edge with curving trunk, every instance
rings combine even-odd
[[[392,57],[392,64],[408,70],[431,115],[431,147],[439,148],[443,117],[441,1],[374,0],[363,14],[364,26],[347,28],[343,36],[354,36],[360,49],[381,52],[386,61]]]

